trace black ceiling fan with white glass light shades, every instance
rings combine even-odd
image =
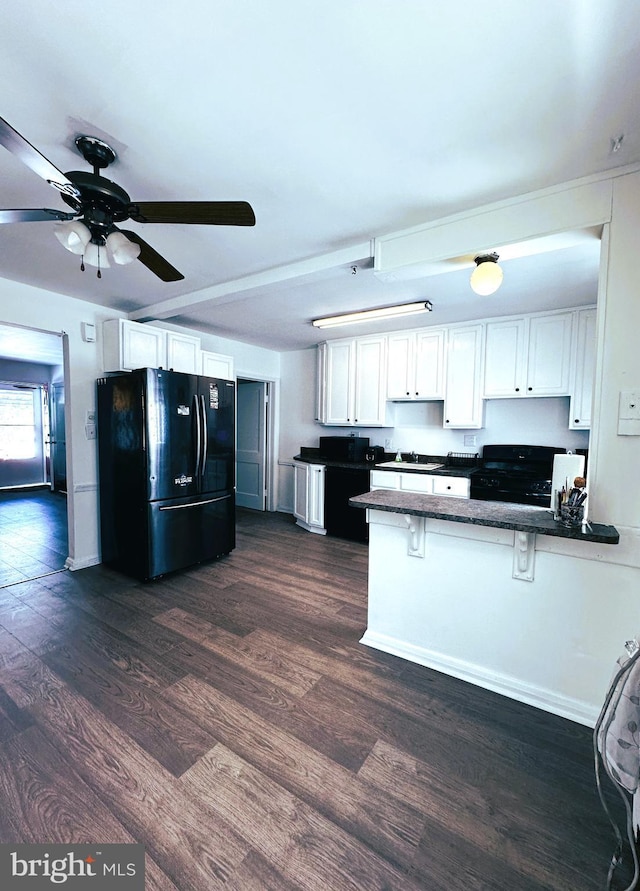
[[[132,201],[117,183],[100,171],[112,164],[116,153],[94,136],[78,136],[76,147],[93,172],[62,173],[24,136],[0,118],[0,144],[60,192],[71,211],[41,209],[1,210],[1,223],[58,221],[56,235],[72,253],[98,266],[108,266],[107,248],[119,264],[138,259],[164,282],[180,281],[184,275],[144,241],[137,232],[119,229],[116,223],[195,223],[202,226],[255,226],[253,209],[246,201]],[[102,251],[102,257],[101,257]],[[97,262],[96,260],[97,255]],[[101,262],[102,260],[102,262]]]

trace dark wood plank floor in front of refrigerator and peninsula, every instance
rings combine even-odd
[[[136,841],[148,889],[604,889],[590,731],[359,644],[366,576],[240,511],[217,563],[0,590],[0,841]]]

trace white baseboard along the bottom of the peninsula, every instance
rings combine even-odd
[[[442,653],[417,647],[386,634],[367,630],[360,643],[375,650],[381,650],[383,653],[399,656],[408,662],[415,662],[417,665],[441,671],[443,674],[483,687],[485,690],[492,690],[494,693],[500,693],[518,702],[533,705],[545,712],[551,712],[561,718],[568,718],[570,721],[584,724],[587,727],[594,727],[598,718],[599,708],[582,700],[563,696],[545,687],[527,684],[510,675],[489,671],[473,662],[465,662],[462,659],[451,658]]]

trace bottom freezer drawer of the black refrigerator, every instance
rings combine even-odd
[[[235,547],[235,494],[176,503],[149,504],[149,566],[152,579],[214,560]]]

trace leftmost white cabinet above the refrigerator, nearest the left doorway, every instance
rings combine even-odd
[[[102,325],[102,358],[105,371],[164,368],[167,364],[167,332],[128,319],[108,319]]]

